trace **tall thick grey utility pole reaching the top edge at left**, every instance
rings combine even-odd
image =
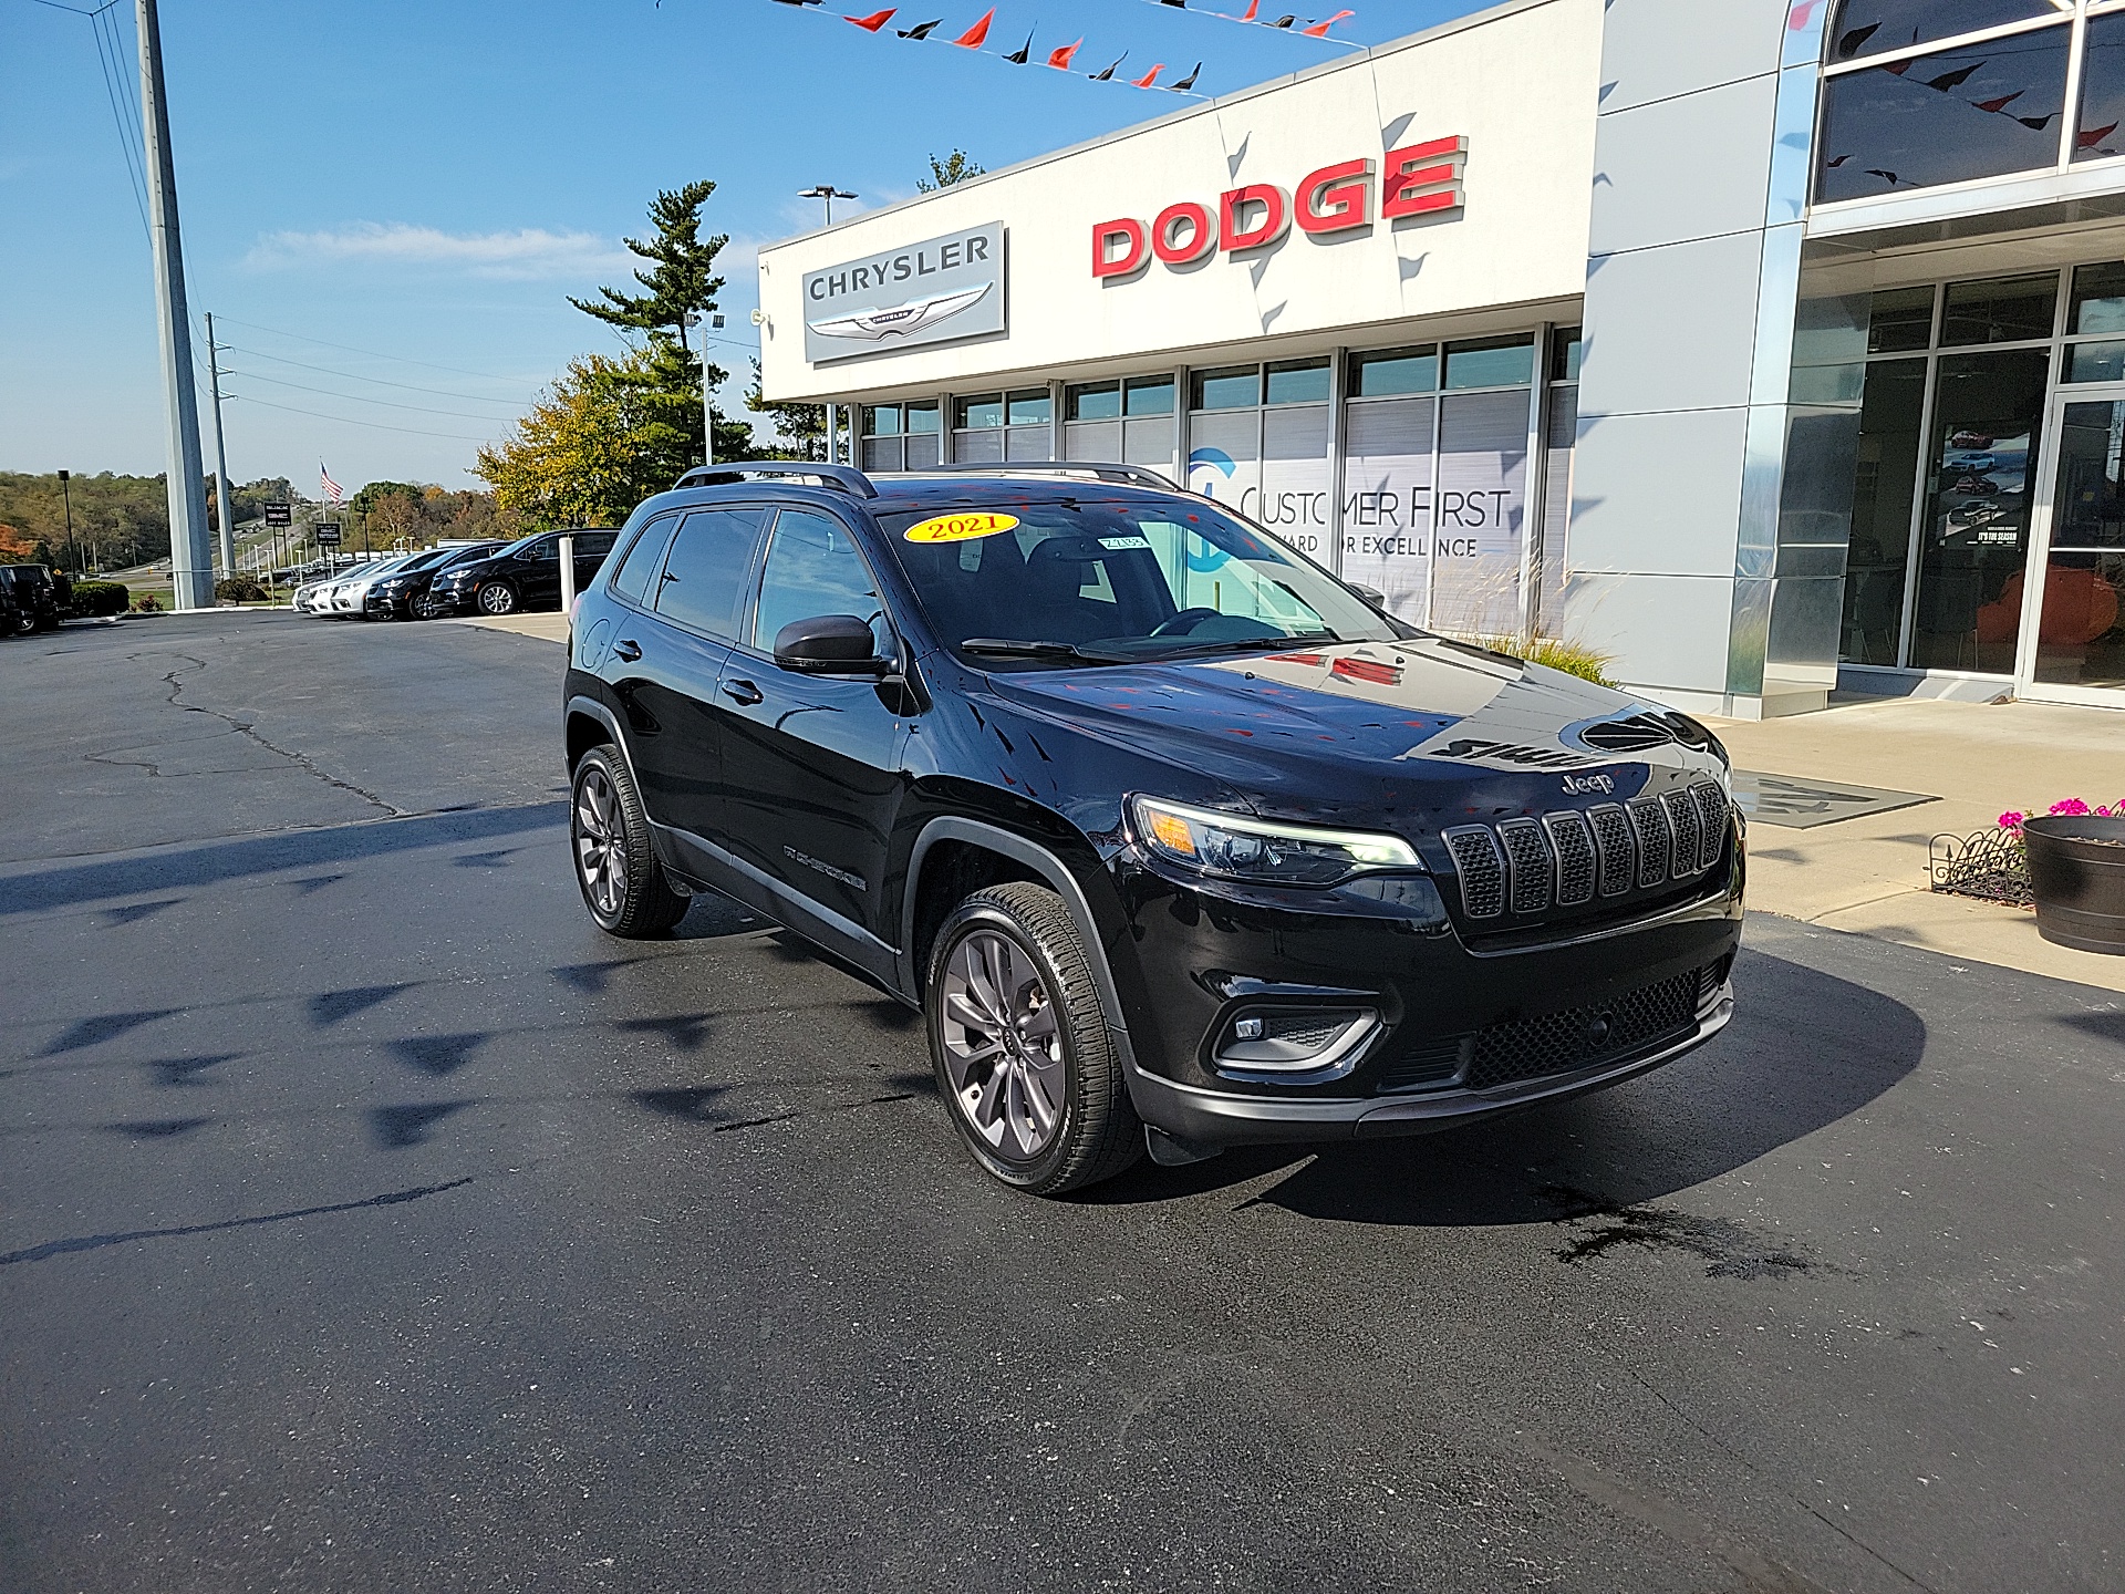
[[[155,319],[162,323],[162,387],[170,423],[170,606],[212,608],[215,570],[206,544],[206,485],[200,480],[200,395],[191,374],[191,310],[185,249],[176,227],[176,166],[170,106],[162,91],[162,23],[155,0],[134,0],[140,26],[140,121],[147,134],[149,236],[155,244]]]

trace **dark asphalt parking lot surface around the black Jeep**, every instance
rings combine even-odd
[[[2116,1590],[2125,999],[1751,918],[1606,1095],[1041,1203],[561,652],[0,644],[4,1590]]]

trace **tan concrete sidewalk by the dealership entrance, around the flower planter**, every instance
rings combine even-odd
[[[1938,801],[1815,829],[1749,827],[1749,905],[1930,952],[2125,990],[2125,959],[2036,933],[2027,908],[1927,891],[1927,842],[2010,808],[2125,797],[2125,714],[2051,703],[1868,699],[1774,720],[1715,720],[1736,769],[1887,786]]]

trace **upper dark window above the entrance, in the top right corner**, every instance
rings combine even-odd
[[[2121,132],[2121,0],[1844,0],[1825,49],[1815,198],[2125,157]]]

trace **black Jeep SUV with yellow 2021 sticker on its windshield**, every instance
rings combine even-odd
[[[920,1007],[1018,1188],[1443,1129],[1734,1012],[1702,725],[1417,631],[1150,472],[718,465],[620,538],[565,684],[591,916],[714,888]]]

